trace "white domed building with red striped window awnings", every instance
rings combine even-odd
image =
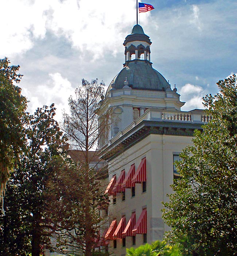
[[[109,252],[162,240],[168,227],[162,202],[179,174],[173,165],[192,143],[195,129],[209,120],[203,110],[184,105],[151,63],[151,41],[135,25],[124,41],[125,63],[101,101],[100,118],[110,109],[112,125],[100,142],[108,162],[109,223],[103,239]],[[100,119],[99,118],[99,119]]]

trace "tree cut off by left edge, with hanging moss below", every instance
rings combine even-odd
[[[5,57],[0,59],[0,193],[3,210],[3,192],[9,172],[16,167],[25,142],[24,118],[27,100],[21,95],[18,74],[20,66],[9,66]]]

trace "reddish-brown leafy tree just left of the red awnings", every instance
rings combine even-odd
[[[52,251],[69,256],[81,255],[85,251],[86,231],[91,235],[91,250],[97,247],[98,228],[104,224],[99,210],[108,202],[97,178],[97,171],[93,167],[87,170],[83,162],[71,163],[70,168],[60,167],[57,174],[51,176],[47,184],[47,194],[51,199],[47,200],[46,209],[51,213],[53,223],[58,225],[52,234]],[[85,197],[89,198],[88,201]],[[89,212],[86,212],[86,206]],[[89,231],[85,229],[88,222]]]

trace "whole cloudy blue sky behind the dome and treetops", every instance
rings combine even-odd
[[[151,41],[151,61],[186,101],[202,108],[216,82],[237,73],[236,0],[145,0],[140,14]],[[136,0],[0,1],[0,58],[20,65],[28,111],[67,99],[87,80],[108,86],[123,68],[125,37],[136,23]]]

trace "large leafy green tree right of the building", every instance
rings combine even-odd
[[[217,83],[206,95],[212,116],[176,163],[182,178],[171,187],[163,218],[172,228],[167,241],[183,244],[184,255],[236,255],[237,252],[237,79]]]

